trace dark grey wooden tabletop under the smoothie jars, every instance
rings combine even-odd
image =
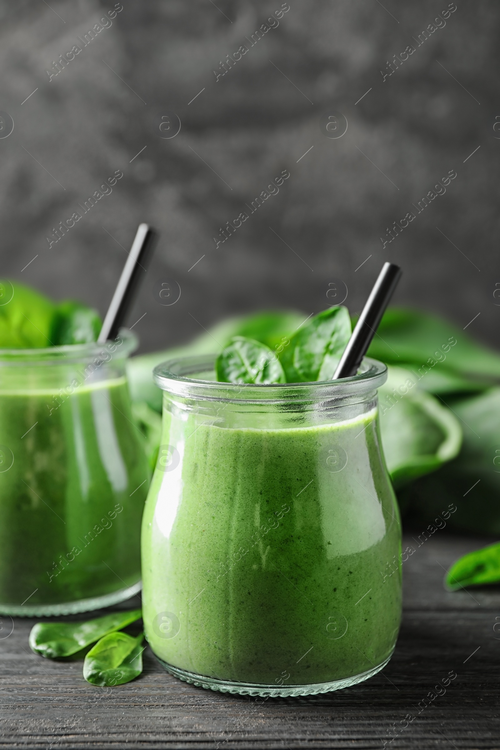
[[[169,676],[150,649],[139,679],[106,691],[85,682],[80,662],[34,655],[34,620],[14,619],[7,635],[3,617],[0,748],[500,748],[500,587],[442,586],[443,568],[488,541],[441,531],[416,548],[388,667],[312,697],[259,704],[205,691]]]

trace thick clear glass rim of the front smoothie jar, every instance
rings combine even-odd
[[[387,380],[387,366],[377,359],[365,357],[358,374],[339,380],[317,380],[310,383],[219,383],[188,375],[214,371],[217,355],[189,356],[169,359],[154,368],[157,386],[172,395],[203,401],[235,401],[274,403],[302,399],[326,400],[364,395],[379,388]]]

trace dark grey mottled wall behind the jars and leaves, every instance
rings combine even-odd
[[[481,313],[468,331],[498,343],[498,2],[457,0],[446,26],[417,46],[412,37],[447,0],[289,0],[280,25],[216,82],[220,60],[280,0],[123,0],[112,26],[49,81],[52,60],[113,5],[0,3],[0,110],[14,121],[0,139],[2,275],[103,313],[146,220],[161,240],[130,312],[130,325],[145,315],[143,351],[226,314],[317,312],[332,304],[335,279],[359,310],[383,260],[405,271],[395,302],[461,327]],[[415,52],[383,80],[409,44]],[[320,125],[335,110],[349,127],[330,139]],[[181,120],[172,139],[159,130],[166,111]],[[49,249],[52,226],[115,169],[124,177],[112,193]],[[280,193],[216,249],[219,227],[282,169],[290,178]],[[445,195],[383,250],[388,224],[450,169]],[[154,297],[165,280],[181,287],[170,307]]]

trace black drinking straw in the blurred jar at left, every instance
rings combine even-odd
[[[120,281],[118,281],[111,305],[104,318],[103,327],[100,329],[98,344],[105,344],[106,341],[118,336],[118,331],[123,326],[133,296],[141,281],[141,274],[145,272],[145,266],[151,257],[155,238],[156,233],[151,226],[139,224],[127,262],[121,272]]]

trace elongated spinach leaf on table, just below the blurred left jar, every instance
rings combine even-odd
[[[142,616],[142,610],[113,612],[86,622],[37,622],[29,634],[32,651],[46,658],[70,656],[95,643],[108,633],[130,625]]]

